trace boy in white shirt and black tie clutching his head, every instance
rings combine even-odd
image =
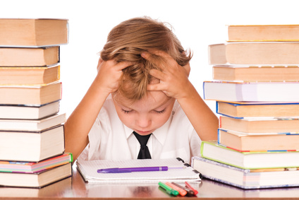
[[[98,73],[65,123],[74,160],[176,158],[216,139],[218,119],[188,80],[191,55],[163,23],[133,18],[107,37]],[[141,141],[145,140],[145,144]],[[143,157],[145,156],[145,157]]]

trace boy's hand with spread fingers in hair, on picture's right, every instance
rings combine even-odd
[[[157,61],[150,57],[150,53],[162,57],[164,61]],[[142,53],[141,56],[159,67],[161,71],[152,69],[150,75],[158,78],[160,83],[152,83],[147,86],[147,90],[163,91],[171,98],[185,98],[188,96],[188,89],[191,85],[188,80],[190,64],[180,66],[169,54],[160,50],[151,50],[150,53]]]

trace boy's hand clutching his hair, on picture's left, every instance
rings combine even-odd
[[[128,62],[117,63],[114,60],[103,61],[99,58],[99,63],[97,65],[97,81],[98,86],[104,90],[105,93],[114,93],[118,90],[121,78],[123,77],[122,69],[130,66]]]

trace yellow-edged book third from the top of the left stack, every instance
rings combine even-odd
[[[60,79],[60,66],[0,66],[0,85],[45,85]]]

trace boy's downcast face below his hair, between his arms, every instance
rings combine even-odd
[[[161,91],[149,91],[145,98],[133,104],[119,93],[116,95],[113,100],[119,119],[140,135],[151,134],[165,124],[175,102]]]

